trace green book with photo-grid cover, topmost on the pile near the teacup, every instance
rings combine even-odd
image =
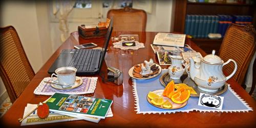
[[[50,111],[75,116],[104,119],[113,103],[111,99],[101,99],[80,95],[55,93],[48,100]]]

